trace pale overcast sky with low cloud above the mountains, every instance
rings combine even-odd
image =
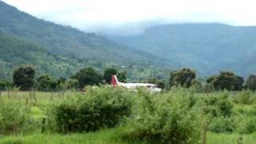
[[[177,22],[222,22],[237,26],[256,26],[255,0],[3,0],[3,2],[38,18],[92,32],[133,33],[155,24]]]

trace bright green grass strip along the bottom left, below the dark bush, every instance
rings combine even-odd
[[[134,139],[124,139],[122,136],[126,130],[122,128],[100,130],[95,133],[86,134],[32,134],[26,136],[0,137],[1,144],[77,144],[77,143],[148,143]]]

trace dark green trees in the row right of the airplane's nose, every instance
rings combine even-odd
[[[170,72],[170,87],[172,86],[198,86],[202,87],[202,82],[196,79],[194,70],[183,68]],[[244,78],[230,71],[220,71],[219,74],[213,75],[206,79],[204,88],[213,90],[230,90],[238,91],[242,89],[256,90],[256,75],[250,74],[246,82]]]

